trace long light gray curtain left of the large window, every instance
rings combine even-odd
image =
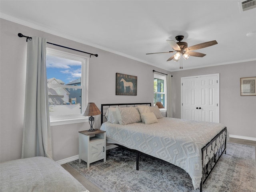
[[[46,39],[32,37],[27,45],[27,71],[22,158],[52,158],[46,78]]]

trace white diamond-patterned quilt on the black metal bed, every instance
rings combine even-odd
[[[225,126],[219,123],[159,118],[158,123],[127,125],[105,122],[108,142],[160,158],[184,169],[192,178],[194,188],[202,178],[201,148]],[[228,135],[228,134],[227,134]]]

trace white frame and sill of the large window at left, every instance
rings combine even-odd
[[[46,55],[66,58],[70,60],[76,60],[82,63],[81,65],[81,74],[82,74],[81,75],[81,94],[82,94],[81,101],[84,104],[82,104],[81,111],[83,112],[86,107],[86,104],[88,103],[89,58],[78,55],[78,54],[72,54],[70,52],[64,52],[64,51],[52,49],[52,48],[46,48]],[[77,89],[78,86],[58,85],[58,87]],[[50,126],[81,123],[81,122],[88,122],[88,117],[83,116],[82,114],[50,116]]]

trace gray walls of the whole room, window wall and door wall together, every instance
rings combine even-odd
[[[42,36],[49,42],[99,54],[89,59],[88,102],[100,108],[103,103],[153,102],[153,73],[166,70],[119,56],[98,48],[67,40],[39,30],[1,19],[0,22],[0,162],[21,157],[24,99],[26,81],[27,36]],[[72,50],[47,45],[74,54]],[[87,55],[89,57],[89,55]],[[115,74],[138,76],[137,96],[115,95]],[[255,62],[182,70],[173,75],[173,115],[180,118],[180,78],[220,73],[220,122],[230,134],[256,138],[256,96],[240,96],[240,77],[256,76]],[[100,127],[100,116],[95,116],[94,128]],[[53,159],[58,161],[78,154],[78,131],[88,130],[89,123],[52,126]]]

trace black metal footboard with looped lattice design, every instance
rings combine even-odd
[[[226,153],[227,128],[225,127],[216,135],[202,150],[202,180],[200,192],[202,192],[205,182],[212,174],[216,164],[224,152]]]

